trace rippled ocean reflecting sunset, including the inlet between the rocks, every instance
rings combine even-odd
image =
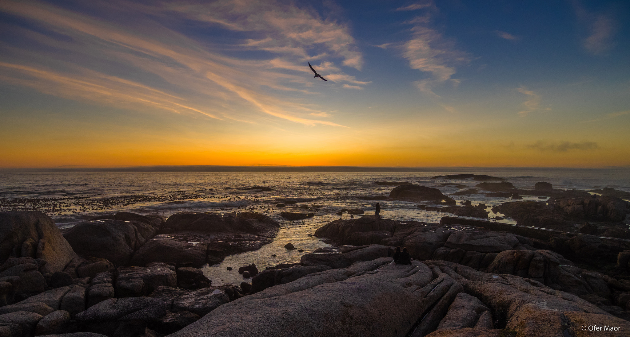
[[[299,262],[302,254],[328,246],[312,236],[330,221],[349,219],[350,214],[336,214],[341,209],[360,208],[374,213],[375,202],[382,207],[381,216],[400,221],[438,223],[445,213],[424,211],[417,202],[370,201],[361,196],[389,196],[395,185],[375,182],[411,182],[440,189],[444,194],[462,191],[449,183],[471,188],[479,182],[471,179],[431,179],[435,175],[485,174],[512,182],[518,189],[534,189],[539,181],[558,189],[602,189],[613,187],[630,192],[630,170],[621,169],[495,169],[476,172],[0,172],[0,211],[42,211],[54,219],[59,228],[70,228],[81,221],[102,214],[132,212],[170,216],[179,212],[263,213],[281,224],[278,236],[260,250],[227,257],[217,265],[204,266],[203,272],[213,285],[240,284],[238,268],[256,263],[260,270],[278,263]],[[265,186],[272,191],[256,192],[249,187]],[[481,194],[451,196],[457,202],[483,202],[497,206],[513,201]],[[296,204],[277,208],[282,199]],[[523,200],[540,200],[524,197]],[[426,203],[426,202],[422,202]],[[314,213],[303,220],[289,221],[280,212]],[[490,211],[490,209],[488,209]],[[503,214],[490,214],[490,220]],[[515,223],[510,218],[503,223]],[[304,250],[287,251],[292,243]],[[277,255],[272,257],[272,255]],[[226,267],[234,268],[231,271]]]

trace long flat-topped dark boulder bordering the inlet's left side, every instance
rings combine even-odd
[[[183,212],[169,216],[164,227],[175,231],[207,231],[250,233],[274,237],[280,228],[277,221],[264,214],[239,213],[192,213]]]

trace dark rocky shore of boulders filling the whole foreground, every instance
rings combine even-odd
[[[404,202],[439,221],[348,204],[312,233],[328,244],[287,263],[233,265],[239,284],[213,284],[203,268],[264,250],[285,221],[318,216],[316,199],[274,198],[278,216],[112,212],[62,229],[39,211],[0,212],[0,335],[580,336],[598,325],[627,336],[627,192],[430,179],[382,180],[382,194],[355,200]],[[503,200],[458,200],[478,194]],[[396,246],[411,265],[392,263]]]

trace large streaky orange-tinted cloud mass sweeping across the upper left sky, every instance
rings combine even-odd
[[[208,6],[217,4],[227,6],[226,1],[213,2]],[[123,24],[50,4],[3,1],[0,2],[0,11],[27,18],[43,30],[13,27],[18,37],[33,41],[31,45],[37,45],[39,49],[0,46],[4,60],[0,64],[3,69],[1,78],[46,94],[124,109],[197,114],[248,123],[275,123],[277,120],[274,119],[284,119],[311,126],[340,126],[331,121],[314,119],[330,118],[331,115],[302,102],[299,96],[286,96],[285,92],[306,94],[313,85],[311,77],[306,76],[310,72],[308,67],[299,67],[301,57],[309,58],[311,55],[304,43],[299,41],[317,41],[316,45],[323,48],[324,53],[337,55],[342,63],[360,67],[362,57],[353,47],[347,28],[292,5],[282,5],[289,6],[282,8],[294,11],[299,22],[292,23],[292,19],[282,11],[276,13],[273,7],[266,7],[267,10],[260,13],[263,23],[248,23],[246,19],[239,19],[246,16],[243,13],[249,13],[249,9],[244,8],[247,6],[239,1],[229,4],[240,8],[242,13],[237,13],[237,18],[227,16],[222,21],[218,18],[213,21],[210,16],[203,17],[208,23],[226,26],[230,30],[269,29],[272,36],[289,27],[292,32],[287,28],[286,33],[277,33],[284,34],[284,41],[289,41],[284,45],[267,43],[266,38],[257,40],[263,45],[261,49],[278,47],[287,50],[274,52],[266,60],[222,55],[221,50],[209,50],[207,44],[138,14],[156,14],[167,9],[157,5],[152,9],[137,4],[133,5],[134,9],[120,6],[115,9],[117,13],[108,13],[135,15],[134,20]],[[178,5],[183,8],[175,3],[162,6],[168,7],[169,11],[179,9],[183,13],[192,10],[184,3]],[[203,4],[198,6],[201,6],[197,7],[200,15],[212,13]],[[103,11],[106,10],[112,9],[104,5]],[[304,25],[302,30],[292,26],[300,25],[300,22]],[[263,27],[256,28],[257,25]],[[278,27],[275,33],[270,25]],[[243,44],[236,47],[258,48],[243,47]],[[329,69],[335,69],[336,73],[331,75],[337,82],[352,86],[369,83],[343,73],[334,65],[330,65]]]

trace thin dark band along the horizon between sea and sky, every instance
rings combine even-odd
[[[350,166],[350,165],[142,165],[127,167],[23,167],[0,172],[461,172],[513,170],[624,170],[630,167]]]

